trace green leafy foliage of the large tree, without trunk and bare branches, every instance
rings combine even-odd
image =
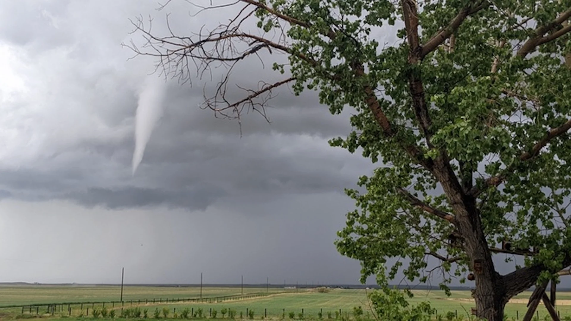
[[[347,215],[347,226],[336,243],[342,254],[362,262],[363,281],[389,258],[409,262],[403,265],[397,260],[389,270],[391,278],[400,270],[409,280],[426,281],[427,254],[453,262],[443,262],[449,275],[444,283],[467,272],[463,249],[450,246],[448,240],[452,224],[412,204],[399,190],[412,190],[429,207],[453,211],[435,176],[403,148],[409,145],[419,146],[427,159],[444,150],[465,186],[482,188],[477,206],[490,247],[502,240],[510,240],[512,248],[536,247],[538,255],[526,256],[526,264],[563,267],[564,253],[571,250],[567,228],[571,141],[562,135],[533,155],[533,161],[521,156],[570,118],[571,73],[564,57],[571,50],[571,38],[566,34],[553,39],[529,55],[518,50],[536,35],[537,26],[548,25],[569,10],[570,1],[419,1],[421,43],[464,8],[484,8],[466,18],[453,39],[416,64],[409,63],[400,3],[267,3],[310,25],[294,24],[287,31],[296,93],[306,87],[318,90],[320,102],[333,114],[345,106],[357,111],[351,118],[354,131],[332,139],[331,145],[352,153],[361,149],[364,157],[380,163],[372,176],[359,180],[364,192],[347,190],[358,209]],[[264,10],[258,11],[258,17],[266,31],[279,20]],[[395,45],[379,43],[378,36],[384,35],[379,27],[396,30]],[[331,30],[343,32],[332,38]],[[392,41],[391,36],[387,39]],[[363,77],[356,75],[356,64],[362,65]],[[430,145],[413,108],[411,73],[421,75],[424,82],[432,118]],[[374,84],[392,126],[391,136],[383,132],[367,104],[367,84]],[[502,177],[502,184],[482,187],[496,176]]]

